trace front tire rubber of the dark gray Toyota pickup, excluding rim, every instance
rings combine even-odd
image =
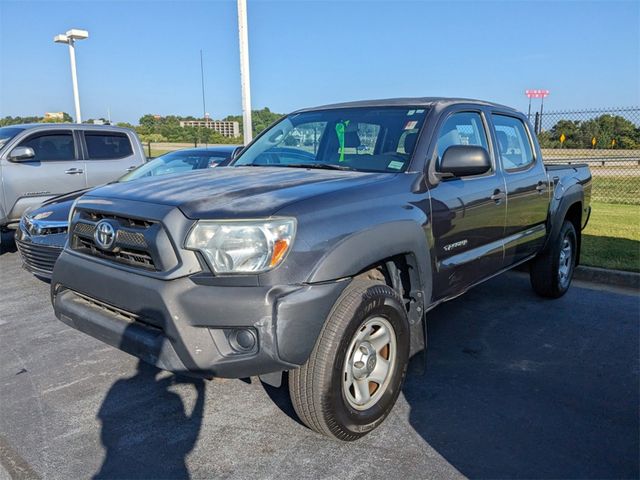
[[[395,334],[395,362],[387,353],[390,366],[388,380],[384,382],[386,388],[378,394],[377,389],[374,391],[373,395],[380,396],[370,408],[357,410],[349,404],[342,382],[346,378],[347,355],[358,350],[355,347],[347,350],[356,335],[364,331],[365,323],[380,318],[392,326]],[[409,322],[398,294],[381,282],[354,280],[333,306],[307,362],[289,372],[289,393],[295,411],[318,433],[339,440],[356,440],[380,425],[393,408],[408,359]]]

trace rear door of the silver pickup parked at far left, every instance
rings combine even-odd
[[[87,129],[81,132],[81,135],[84,141],[89,187],[117,180],[140,163],[126,133]]]

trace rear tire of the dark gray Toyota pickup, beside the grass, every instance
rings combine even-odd
[[[569,246],[571,257],[568,264],[566,248]],[[531,261],[529,276],[533,290],[542,297],[560,298],[571,286],[573,271],[578,253],[576,229],[573,223],[565,220],[558,236],[551,241],[544,252]],[[563,254],[563,250],[565,253]],[[564,255],[564,256],[563,256]],[[564,275],[561,273],[561,262]]]

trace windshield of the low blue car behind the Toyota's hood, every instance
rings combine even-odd
[[[131,180],[137,180],[143,177],[157,177],[160,175],[216,167],[230,156],[230,153],[217,152],[215,150],[191,150],[166,153],[120,177],[118,182],[130,182]]]

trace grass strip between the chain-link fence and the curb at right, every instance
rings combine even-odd
[[[640,206],[593,203],[580,262],[640,272]]]

